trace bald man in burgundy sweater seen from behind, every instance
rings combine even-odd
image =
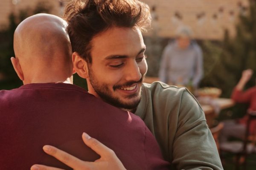
[[[102,160],[107,155],[103,163],[113,162],[110,158],[115,154],[99,153],[99,144],[90,143],[89,136],[84,135],[84,141],[96,147],[100,156],[84,146],[83,132],[116,153],[123,165],[111,169],[169,169],[154,136],[138,116],[69,84],[74,71],[65,25],[59,17],[37,14],[15,30],[12,64],[24,85],[0,91],[0,169],[28,170],[32,164],[73,169],[44,153],[45,144],[81,160]]]

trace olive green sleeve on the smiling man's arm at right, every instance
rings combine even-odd
[[[179,170],[222,170],[216,144],[198,102],[184,91],[179,107],[172,163]]]

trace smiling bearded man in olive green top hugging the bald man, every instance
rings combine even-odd
[[[142,31],[151,23],[139,0],[75,0],[65,10],[73,65],[90,94],[140,116],[173,169],[221,170],[204,112],[186,88],[144,84]]]

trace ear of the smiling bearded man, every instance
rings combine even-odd
[[[73,52],[72,61],[76,73],[80,77],[87,79],[89,77],[87,62],[77,52]]]

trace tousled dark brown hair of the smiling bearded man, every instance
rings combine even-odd
[[[73,52],[91,63],[90,41],[111,27],[137,27],[146,31],[151,15],[148,5],[139,0],[73,0],[66,9],[67,33]]]

